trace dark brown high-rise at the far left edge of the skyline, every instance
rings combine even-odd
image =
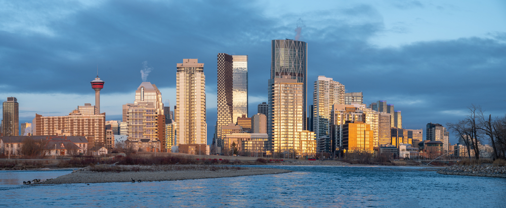
[[[8,97],[2,104],[2,133],[4,136],[19,135],[19,103],[15,97]]]

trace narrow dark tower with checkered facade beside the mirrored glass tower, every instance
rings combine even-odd
[[[221,128],[235,123],[233,113],[233,57],[228,54],[218,54],[218,82],[217,82],[217,120],[215,145],[223,146]],[[237,118],[235,118],[237,120]]]

